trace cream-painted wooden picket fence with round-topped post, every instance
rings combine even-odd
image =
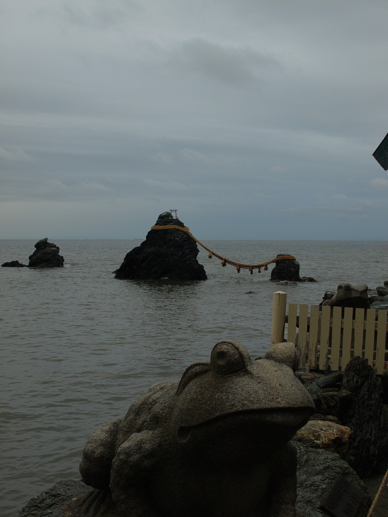
[[[376,309],[346,307],[342,317],[341,307],[307,303],[290,303],[286,314],[287,294],[274,293],[272,309],[271,345],[285,339],[295,343],[300,353],[300,368],[311,370],[344,370],[350,359],[361,356],[368,360],[378,374],[388,370],[385,361],[387,312]]]

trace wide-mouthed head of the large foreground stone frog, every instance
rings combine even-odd
[[[210,362],[193,363],[184,372],[172,433],[188,453],[202,449],[217,462],[233,454],[240,460],[269,457],[315,412],[296,367],[293,343],[278,343],[253,361],[240,343],[220,341]]]

